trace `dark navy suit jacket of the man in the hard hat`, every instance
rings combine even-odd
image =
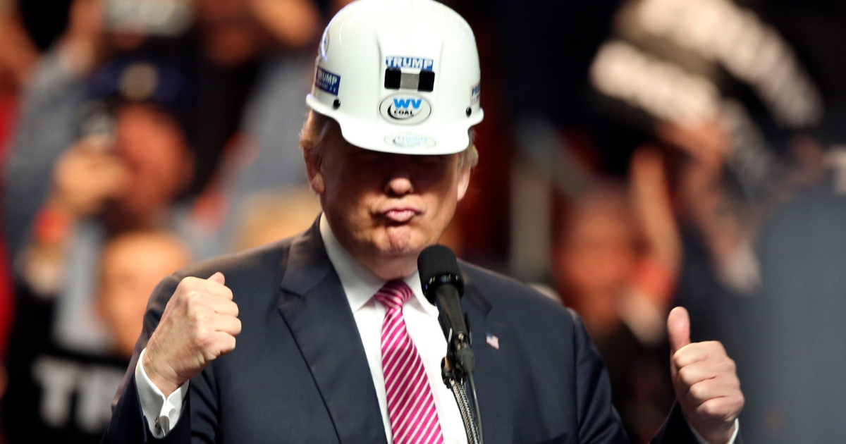
[[[628,441],[579,317],[512,279],[461,269],[486,443]],[[159,284],[103,442],[157,441],[141,414],[135,361],[180,279],[215,271],[226,276],[243,330],[231,354],[190,381],[182,416],[163,441],[385,443],[365,350],[317,224]],[[499,338],[498,349],[487,333]],[[656,442],[695,444],[678,408]]]

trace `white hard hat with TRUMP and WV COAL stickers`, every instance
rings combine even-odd
[[[329,22],[305,102],[350,144],[451,154],[481,122],[479,53],[470,25],[432,0],[358,0]]]

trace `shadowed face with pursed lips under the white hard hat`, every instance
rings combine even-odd
[[[415,270],[417,255],[438,238],[470,182],[459,155],[409,156],[349,145],[332,125],[321,160],[308,162],[312,188],[343,247],[376,275]]]

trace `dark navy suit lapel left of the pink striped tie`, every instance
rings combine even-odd
[[[338,441],[387,443],[365,349],[317,222],[291,244],[281,287],[279,312],[309,365]]]

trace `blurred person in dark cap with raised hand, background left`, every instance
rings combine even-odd
[[[15,259],[25,293],[58,300],[57,342],[98,353],[107,345],[102,325],[91,321],[102,239],[125,229],[190,233],[193,220],[178,198],[193,178],[194,153],[185,135],[190,88],[172,66],[118,59],[97,71],[90,95],[99,105],[56,164]]]

